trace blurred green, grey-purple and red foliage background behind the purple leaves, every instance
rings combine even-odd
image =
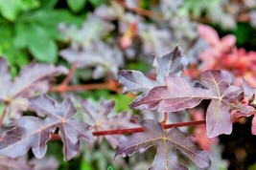
[[[151,76],[154,56],[170,53],[176,45],[189,59],[184,72],[188,78],[198,79],[205,70],[221,69],[234,75],[236,85],[244,77],[256,88],[256,1],[0,0],[0,55],[8,59],[12,77],[31,62],[67,67],[78,63],[73,84],[116,79],[121,69]],[[130,97],[108,90],[77,95],[115,99],[115,112],[134,112],[128,108]],[[191,116],[184,119],[203,119],[205,105],[207,101],[186,111]],[[156,117],[150,111],[139,114]],[[198,146],[210,153],[211,169],[256,170],[256,138],[250,126],[251,117],[242,118],[234,123],[230,136],[213,139],[206,138],[201,125],[183,131],[199,138],[195,139]],[[81,146],[81,155],[65,162],[61,141],[49,142],[48,157],[41,162],[53,165],[47,169],[143,170],[155,153],[151,148],[150,154],[113,159],[114,149],[105,140]],[[197,168],[191,164],[190,169]]]

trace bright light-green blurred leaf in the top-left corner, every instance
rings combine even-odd
[[[38,6],[37,0],[0,0],[0,13],[6,19],[14,21],[21,11],[29,11]]]

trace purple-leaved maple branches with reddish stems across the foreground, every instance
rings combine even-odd
[[[7,61],[0,58],[0,101],[4,104],[0,123],[3,126],[5,118],[11,122],[0,139],[0,154],[18,158],[32,149],[35,158],[41,159],[47,152],[47,142],[61,139],[64,159],[70,160],[80,153],[81,140],[94,142],[105,138],[116,149],[115,157],[130,157],[156,147],[150,169],[187,169],[179,162],[179,153],[198,168],[206,169],[211,166],[207,152],[198,148],[195,139],[178,127],[205,124],[208,138],[229,135],[234,122],[255,114],[256,89],[245,80],[242,86],[233,85],[232,74],[220,70],[207,70],[200,74],[199,79],[192,79],[183,74],[187,63],[180,48],[176,47],[172,53],[155,57],[152,63],[155,74],[151,77],[133,70],[123,70],[118,74],[123,93],[136,94],[130,108],[163,113],[163,120],[158,122],[156,119],[134,118],[128,112],[110,116],[115,105],[113,101],[102,100],[99,107],[95,107],[88,100],[66,97],[58,103],[46,95],[48,92],[97,88],[119,92],[119,83],[115,80],[94,85],[68,85],[76,64],[68,74],[63,66],[33,63],[12,79]],[[68,75],[61,84],[50,86],[58,74]],[[195,108],[202,100],[210,101],[205,119],[166,123],[169,115],[179,115],[179,111]],[[80,121],[74,118],[78,104],[83,111],[81,114],[86,116]],[[36,115],[24,116],[24,111],[33,111]],[[251,131],[256,135],[255,118]]]

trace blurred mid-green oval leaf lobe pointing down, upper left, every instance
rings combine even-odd
[[[38,61],[55,63],[58,57],[56,42],[42,28],[34,26],[30,31],[28,48]]]

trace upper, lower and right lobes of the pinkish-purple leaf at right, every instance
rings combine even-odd
[[[214,94],[206,112],[206,131],[208,138],[220,134],[231,134],[232,119],[230,112],[236,108],[235,102],[242,99],[242,89],[231,84],[231,74],[222,71],[206,71],[201,79]]]

